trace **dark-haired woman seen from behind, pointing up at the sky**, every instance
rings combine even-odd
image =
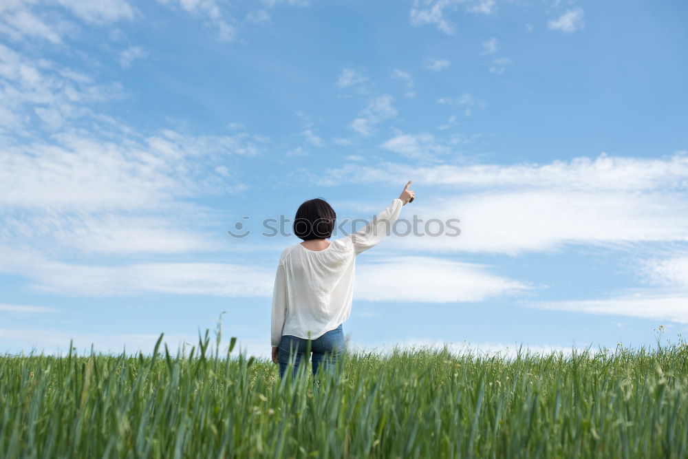
[[[344,350],[342,323],[351,312],[356,255],[391,230],[402,206],[416,195],[409,186],[411,181],[363,230],[332,242],[327,239],[336,214],[330,204],[314,199],[299,206],[294,234],[303,242],[283,250],[272,293],[272,361],[279,363],[280,378],[290,360],[296,374],[309,339],[313,374],[321,365],[334,371]]]

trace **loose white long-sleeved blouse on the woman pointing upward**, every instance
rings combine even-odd
[[[273,346],[283,334],[316,339],[349,318],[356,255],[380,242],[399,217],[400,199],[356,233],[330,242],[324,250],[294,244],[283,250],[272,292]]]

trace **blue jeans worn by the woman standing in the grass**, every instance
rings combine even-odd
[[[294,337],[290,334],[283,334],[281,341],[279,341],[279,351],[277,352],[277,362],[279,363],[279,377],[284,376],[287,370],[287,365],[290,359],[294,361],[294,369],[292,370],[292,377],[296,376],[301,363],[301,357],[306,356],[308,350],[308,339]],[[342,358],[344,351],[344,332],[342,325],[339,324],[334,330],[326,332],[321,337],[310,340],[310,350],[313,353],[313,375],[315,376],[318,369],[322,366],[323,372],[327,371],[334,375],[336,370],[336,363]]]

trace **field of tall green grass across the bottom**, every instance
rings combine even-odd
[[[685,343],[350,354],[318,391],[210,343],[0,358],[0,457],[688,457]]]

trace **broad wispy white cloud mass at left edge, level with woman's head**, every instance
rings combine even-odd
[[[204,229],[219,211],[186,200],[244,191],[233,158],[255,155],[257,140],[245,133],[109,134],[103,140],[65,133],[54,143],[0,148],[0,244],[88,255],[222,246]]]

